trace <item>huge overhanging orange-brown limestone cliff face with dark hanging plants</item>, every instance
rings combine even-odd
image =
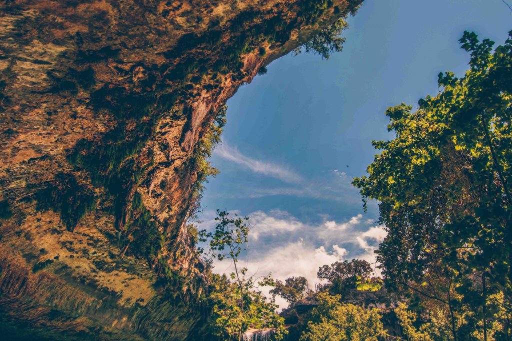
[[[262,66],[360,2],[2,2],[3,332],[200,338],[198,141]]]

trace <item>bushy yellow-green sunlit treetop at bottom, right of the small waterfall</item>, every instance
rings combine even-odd
[[[317,294],[318,306],[300,341],[377,341],[387,335],[378,309],[341,304],[340,295]]]

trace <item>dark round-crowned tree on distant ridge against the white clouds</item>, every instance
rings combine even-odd
[[[337,293],[344,293],[355,288],[358,281],[368,278],[372,273],[370,264],[363,259],[352,259],[351,262],[335,262],[318,268],[317,277],[327,279],[330,289]]]

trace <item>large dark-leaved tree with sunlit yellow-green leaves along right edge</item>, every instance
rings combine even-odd
[[[473,32],[460,43],[464,77],[440,73],[442,91],[414,112],[389,108],[396,137],[373,142],[381,153],[353,184],[379,203],[387,288],[445,309],[451,339],[490,340],[511,311],[512,31],[494,53]]]

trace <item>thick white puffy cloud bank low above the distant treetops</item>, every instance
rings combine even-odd
[[[281,280],[304,276],[311,288],[319,282],[316,273],[322,265],[352,258],[374,263],[374,250],[386,237],[382,226],[371,226],[369,222],[374,220],[364,219],[362,214],[345,222],[325,220],[318,224],[301,222],[281,210],[248,215],[252,226],[249,249],[240,263],[250,274],[272,273]],[[212,228],[210,224],[211,220],[203,227]],[[232,269],[229,262],[223,261],[215,263],[215,271],[230,273]]]

